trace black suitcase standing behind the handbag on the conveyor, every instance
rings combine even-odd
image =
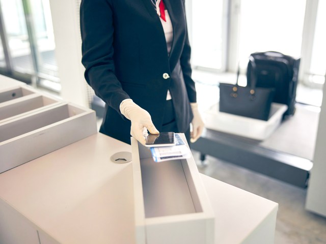
[[[295,112],[295,96],[298,78],[300,58],[284,55],[280,52],[255,52],[254,57],[257,66],[257,86],[275,88],[273,102],[288,106],[284,117]],[[247,83],[250,84],[251,65],[248,63]],[[284,118],[283,117],[283,118]]]

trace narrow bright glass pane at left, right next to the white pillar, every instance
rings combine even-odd
[[[49,0],[30,1],[39,73],[58,77]]]

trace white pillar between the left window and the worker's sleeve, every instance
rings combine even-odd
[[[81,63],[82,48],[79,31],[79,1],[50,0],[56,58],[65,101],[89,106],[87,83]]]

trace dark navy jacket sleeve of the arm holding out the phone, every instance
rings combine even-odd
[[[98,97],[123,117],[119,106],[129,96],[115,75],[113,8],[110,0],[82,0],[80,32],[86,81]]]

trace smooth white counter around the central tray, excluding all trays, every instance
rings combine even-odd
[[[17,148],[18,150],[19,148]],[[134,243],[131,146],[96,134],[0,174],[0,243]],[[278,204],[202,176],[215,243],[274,243]]]

